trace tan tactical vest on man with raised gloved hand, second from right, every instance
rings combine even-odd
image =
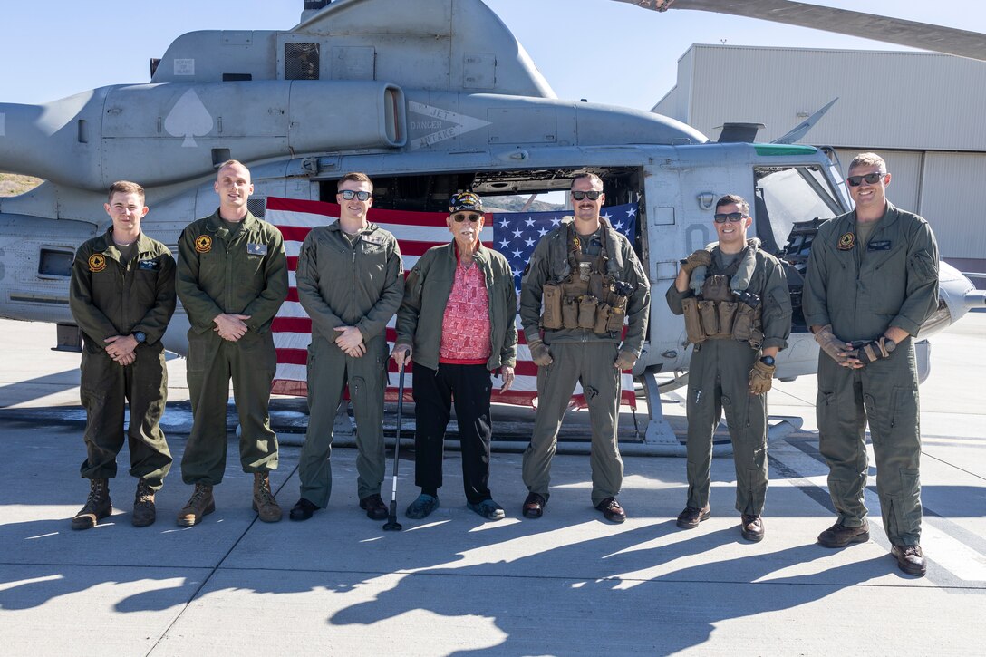
[[[745,257],[755,257],[756,247],[747,247],[743,255],[723,273],[708,276],[698,296],[681,300],[684,329],[688,341],[735,339],[754,349],[763,342],[763,307],[761,299],[746,289],[734,290],[730,283]]]

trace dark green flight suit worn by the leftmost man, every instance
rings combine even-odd
[[[80,472],[89,479],[116,476],[129,401],[130,474],[159,490],[172,466],[159,422],[168,399],[161,338],[175,313],[175,258],[165,245],[141,233],[136,255],[123,263],[110,228],[79,248],[69,289],[69,307],[84,342],[80,392],[87,457]],[[105,340],[137,331],[147,339],[134,349],[136,360],[121,366],[106,353]]]

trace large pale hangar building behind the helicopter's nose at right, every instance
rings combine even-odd
[[[875,151],[887,197],[931,222],[942,258],[986,272],[986,62],[927,52],[692,45],[653,111],[717,138],[763,123],[773,141],[838,102],[799,143],[831,146],[845,168]],[[986,279],[973,279],[984,287]]]

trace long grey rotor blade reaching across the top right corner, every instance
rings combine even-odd
[[[616,0],[665,12],[690,9],[871,38],[986,61],[986,35],[790,0]]]

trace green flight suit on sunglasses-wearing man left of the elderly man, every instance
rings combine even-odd
[[[368,224],[351,242],[339,222],[319,226],[298,256],[298,298],[312,318],[308,356],[309,427],[298,473],[302,497],[318,507],[332,489],[329,456],[336,409],[348,384],[356,417],[357,492],[380,494],[386,472],[384,395],[387,391],[387,322],[404,294],[397,240]],[[336,327],[356,327],[366,353],[346,355]]]

